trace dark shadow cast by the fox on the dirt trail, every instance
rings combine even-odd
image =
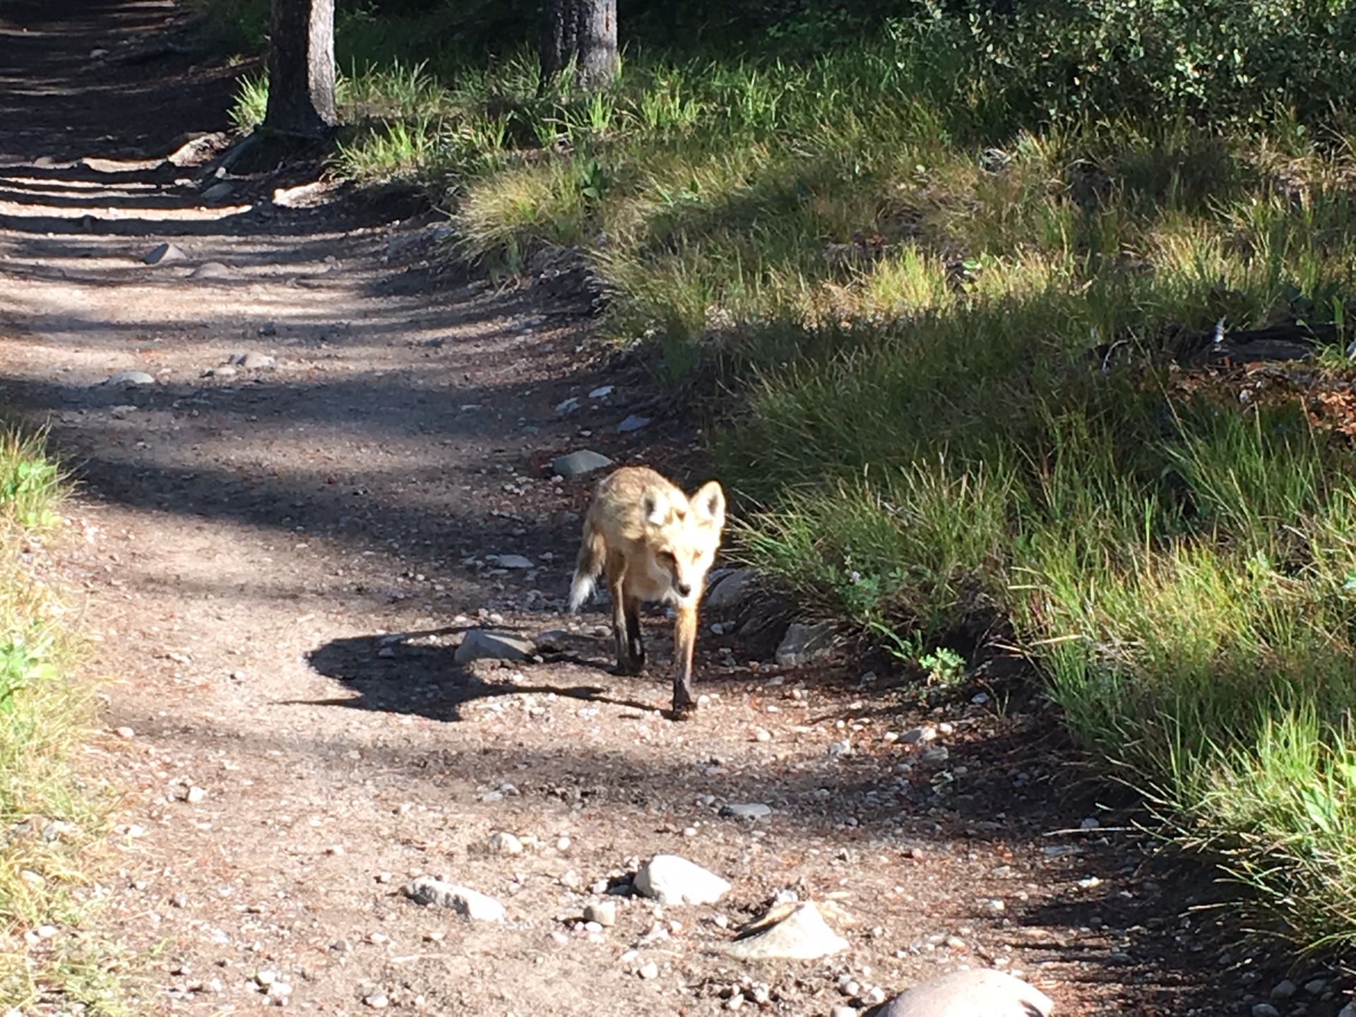
[[[511,682],[507,681],[511,669],[503,670],[504,681],[483,678],[456,663],[457,645],[445,641],[447,636],[465,631],[449,626],[331,640],[312,650],[306,660],[317,673],[339,681],[357,696],[305,702],[408,713],[441,721],[462,720],[462,706],[468,702],[515,693],[555,693],[571,700],[607,702],[639,711],[654,709],[654,704],[617,697],[595,685]],[[553,662],[597,669],[598,662],[587,652],[590,648],[587,640],[568,640],[545,656]],[[540,674],[538,670],[536,677]]]

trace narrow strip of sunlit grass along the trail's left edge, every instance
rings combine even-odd
[[[0,424],[0,1012],[122,1013],[113,948],[83,930],[107,801],[71,763],[94,715],[79,639],[31,568],[62,494],[42,442]]]

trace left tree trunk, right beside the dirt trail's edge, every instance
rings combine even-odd
[[[264,129],[319,138],[336,122],[335,0],[273,0]]]

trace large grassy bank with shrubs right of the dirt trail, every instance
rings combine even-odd
[[[749,561],[917,654],[1005,618],[1257,928],[1348,951],[1356,8],[841,9],[594,96],[527,52],[354,64],[338,164],[496,267],[584,252],[618,343],[725,385]],[[1220,320],[1329,347],[1178,366]]]

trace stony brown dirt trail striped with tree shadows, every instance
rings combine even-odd
[[[273,205],[293,174],[205,201],[212,152],[163,157],[224,126],[229,75],[172,3],[7,4],[0,43],[0,399],[77,468],[64,567],[117,679],[92,754],[126,792],[99,921],[160,948],[159,1010],[255,1008],[273,974],[324,1013],[701,1014],[740,984],[759,1008],[761,982],[763,1010],[829,1014],[848,972],[892,994],[993,963],[1062,1014],[1196,1012],[1218,964],[1182,891],[1116,833],[1043,835],[1090,808],[1048,719],[907,716],[846,662],[786,671],[704,635],[713,700],[673,724],[662,670],[605,670],[597,609],[548,662],[454,666],[487,618],[571,621],[593,479],[555,481],[555,456],[673,462],[692,435],[617,434],[648,393],[590,365],[578,308],[441,275],[435,221],[405,199]],[[160,241],[182,260],[144,264]],[[226,363],[241,353],[271,366]],[[102,384],[125,370],[155,384]],[[885,736],[925,721],[953,725],[944,767]],[[527,849],[485,853],[500,830]],[[734,890],[576,921],[656,852]],[[506,921],[403,899],[422,873]],[[712,951],[786,887],[834,900],[850,949],[753,968]]]

